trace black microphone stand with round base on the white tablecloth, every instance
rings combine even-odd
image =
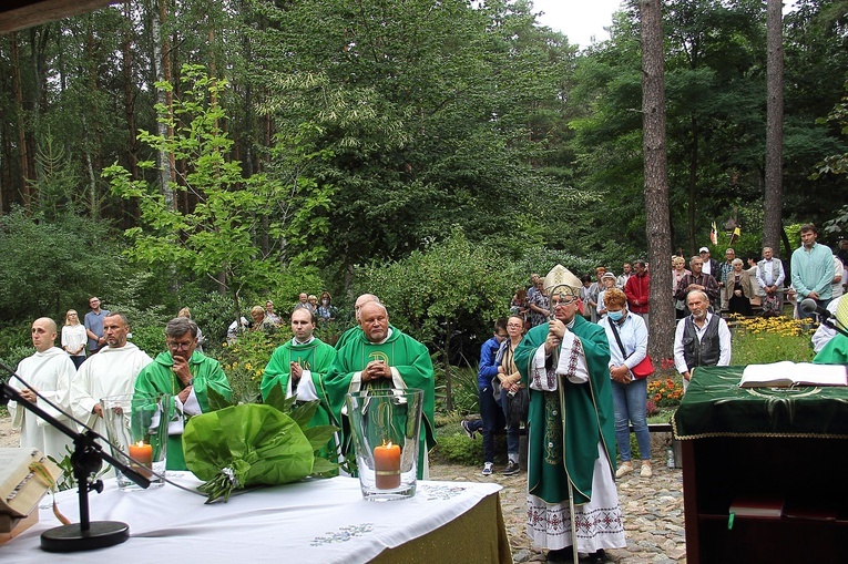
[[[3,365],[2,368],[7,367]],[[11,373],[21,380],[18,375]],[[80,523],[44,531],[41,534],[41,548],[47,552],[91,551],[126,541],[130,537],[130,527],[126,523],[120,521],[91,522],[89,520],[89,491],[94,490],[98,493],[103,491],[103,482],[101,480],[92,482],[92,474],[100,470],[100,466],[103,465],[103,460],[105,460],[142,488],[149,488],[150,480],[122,461],[104,452],[102,447],[94,441],[95,433],[93,431],[89,430],[84,433],[74,431],[35,403],[23,399],[23,396],[8,383],[3,382],[0,384],[0,400],[3,403],[7,400],[17,401],[18,406],[31,411],[73,439],[74,451],[71,454],[71,465],[73,466],[73,475],[79,484]]]

